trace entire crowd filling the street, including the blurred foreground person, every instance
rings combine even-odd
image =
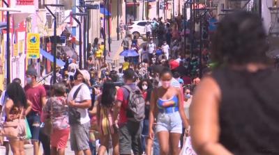
[[[275,101],[272,99],[278,95],[264,88],[273,95],[270,100],[264,92],[259,92],[263,88],[257,86],[257,81],[266,81],[262,85],[269,85],[268,88],[278,84],[267,82],[276,79],[277,74],[267,69],[267,60],[259,58],[263,58],[266,50],[260,19],[250,13],[236,13],[220,22],[213,41],[216,51],[212,51],[219,68],[212,73],[206,71],[211,63],[206,48],[202,57],[183,52],[186,40],[181,32],[186,30],[181,23],[179,17],[165,24],[161,18],[153,19],[146,24],[148,42],[143,45],[136,37],[126,35],[123,50],[133,50],[138,55],[126,56],[119,70],[105,63],[105,45],[96,38],[86,67],[79,68],[76,60],[67,58],[66,66],[57,69],[56,83],[50,90],[37,82],[37,71],[29,67],[24,88],[20,79],[14,79],[0,98],[0,142],[7,146],[6,152],[10,145],[13,154],[24,154],[24,144],[31,143],[34,155],[39,154],[40,145],[45,155],[63,155],[69,140],[70,149],[77,155],[108,152],[195,155],[195,151],[276,154],[278,143],[272,142],[278,142],[279,123],[272,119],[278,116],[278,106],[272,104]],[[239,28],[237,33],[229,31],[229,26]],[[249,32],[252,28],[258,29]],[[233,47],[229,41],[234,43]],[[250,42],[262,46],[254,50]],[[243,52],[250,59],[243,58]],[[199,70],[206,74],[202,81]],[[245,101],[244,107],[238,105]],[[257,107],[251,108],[252,104]],[[264,110],[259,111],[260,107]],[[274,126],[266,124],[269,117]],[[267,125],[267,131],[260,129],[262,124]],[[247,129],[240,129],[242,126]],[[253,132],[246,136],[250,130]],[[266,137],[254,140],[260,134]]]

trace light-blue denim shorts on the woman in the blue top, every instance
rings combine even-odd
[[[156,133],[160,131],[182,133],[182,120],[178,111],[174,113],[158,113]]]

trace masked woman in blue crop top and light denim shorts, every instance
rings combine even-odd
[[[152,124],[156,117],[156,133],[160,144],[160,154],[179,154],[179,140],[182,123],[188,126],[183,110],[180,90],[172,87],[172,72],[164,69],[160,73],[162,86],[153,90],[149,113],[149,137],[154,138]]]

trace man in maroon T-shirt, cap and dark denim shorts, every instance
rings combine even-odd
[[[44,153],[50,154],[50,138],[47,138],[42,132],[40,133],[40,115],[42,108],[47,102],[45,88],[36,81],[37,71],[33,67],[29,67],[26,72],[26,82],[24,90],[27,95],[27,99],[32,103],[32,110],[27,115],[27,121],[31,129],[33,144],[33,154],[38,155],[39,152],[39,140],[43,144]]]

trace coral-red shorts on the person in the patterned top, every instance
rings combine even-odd
[[[68,129],[53,129],[50,135],[50,145],[56,149],[65,149],[69,138],[70,128]]]

